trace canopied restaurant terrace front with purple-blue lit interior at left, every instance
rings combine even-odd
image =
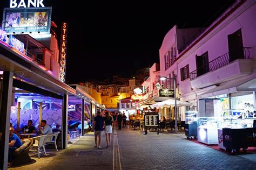
[[[66,148],[67,136],[67,116],[68,116],[68,96],[76,95],[76,90],[67,84],[60,82],[55,77],[51,76],[44,69],[36,65],[36,63],[24,58],[23,55],[0,43],[0,70],[1,70],[1,107],[0,107],[0,155],[8,155],[9,143],[9,126],[11,121],[11,111],[18,114],[19,107],[23,107],[19,114],[24,114],[24,107],[31,111],[34,107],[39,107],[35,110],[35,122],[39,123],[39,114],[42,112],[41,118],[46,118],[42,108],[47,112],[55,114],[57,122],[62,125],[62,148]],[[30,95],[30,99],[29,96]],[[18,99],[20,98],[20,99]],[[22,98],[27,98],[22,100]],[[32,98],[35,102],[31,102]],[[47,98],[43,100],[39,98]],[[52,104],[54,102],[54,106]],[[42,103],[42,104],[41,104]],[[51,105],[51,107],[50,107]],[[12,108],[12,109],[11,109]],[[51,108],[51,109],[50,109]],[[47,115],[47,114],[46,114]],[[58,117],[59,116],[59,117]],[[26,119],[33,118],[31,114],[27,115]],[[49,119],[49,122],[50,119]],[[22,120],[19,121],[21,125]],[[51,122],[53,124],[53,121]],[[56,122],[55,122],[56,123]],[[16,124],[17,126],[17,124]],[[1,162],[7,165],[6,157],[1,157]],[[3,165],[1,165],[3,167]]]

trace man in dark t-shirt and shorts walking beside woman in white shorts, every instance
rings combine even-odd
[[[100,116],[100,112],[97,112],[97,116],[94,118],[93,121],[93,126],[94,128],[94,134],[95,134],[95,147],[98,147],[98,149],[102,149],[102,147],[100,146],[100,141],[101,141],[101,136],[102,136],[102,132],[103,129],[105,129],[105,119]],[[97,138],[99,136],[99,140],[98,140],[98,145],[97,145]]]

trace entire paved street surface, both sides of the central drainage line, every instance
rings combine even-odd
[[[114,139],[114,140],[113,140]],[[67,150],[48,152],[30,165],[11,169],[256,169],[251,154],[247,158],[229,155],[183,138],[183,134],[122,129],[112,134],[111,147],[94,148],[94,135],[88,133]],[[78,156],[80,151],[102,151],[101,156]],[[32,154],[32,153],[31,153]],[[114,161],[113,161],[114,158]]]

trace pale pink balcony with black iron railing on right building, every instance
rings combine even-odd
[[[206,72],[203,74],[198,75],[198,70],[191,72],[190,80],[192,88],[204,88],[252,73],[253,62],[250,60],[252,58],[250,49],[251,47],[244,47],[243,59],[230,61],[229,53],[226,53],[210,61],[208,68],[205,69]]]

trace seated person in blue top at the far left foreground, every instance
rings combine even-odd
[[[14,128],[10,128],[10,136],[9,136],[9,153],[8,153],[8,167],[11,167],[14,162],[14,150],[16,148],[21,147],[22,142],[21,139],[14,133]]]

